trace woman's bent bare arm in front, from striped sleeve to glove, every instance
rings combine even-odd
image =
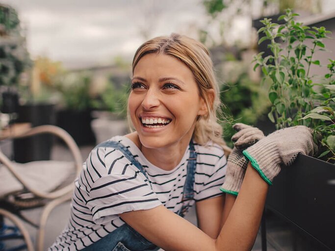
[[[237,200],[217,239],[164,206],[131,211],[121,218],[145,238],[168,251],[250,250],[254,244],[268,184],[250,164]]]

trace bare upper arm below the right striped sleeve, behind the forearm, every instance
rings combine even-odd
[[[217,238],[223,226],[222,211],[224,203],[225,194],[196,202],[198,227],[214,239]]]

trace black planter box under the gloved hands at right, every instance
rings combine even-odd
[[[266,209],[310,241],[292,250],[335,250],[335,165],[299,154],[274,179]]]

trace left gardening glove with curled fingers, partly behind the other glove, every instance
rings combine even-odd
[[[242,151],[262,139],[264,134],[258,128],[242,123],[232,127],[238,132],[232,136],[232,141],[235,141],[234,148],[228,157],[226,179],[220,190],[237,196],[249,162]]]

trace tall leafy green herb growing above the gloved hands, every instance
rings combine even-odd
[[[325,27],[309,28],[297,23],[294,20],[297,15],[287,9],[286,14],[278,18],[278,21],[285,21],[283,25],[272,23],[271,19],[261,21],[264,26],[258,32],[263,32],[264,37],[259,39],[258,44],[270,40],[268,47],[273,54],[265,58],[262,57],[263,52],[256,55],[254,69],[261,67],[263,80],[271,83],[269,119],[276,123],[277,128],[305,125],[322,133],[322,144],[329,148],[327,153],[321,154],[322,157],[334,153],[331,141],[334,138],[334,60],[328,65],[330,73],[325,76],[329,79],[328,84],[315,83],[310,67],[313,64],[320,66],[320,61],[314,60],[313,56],[318,50],[325,50],[322,39],[328,38],[327,34],[331,32]],[[308,45],[308,40],[312,46]],[[329,116],[319,114],[323,112]],[[332,159],[334,154],[328,157],[328,160]]]

